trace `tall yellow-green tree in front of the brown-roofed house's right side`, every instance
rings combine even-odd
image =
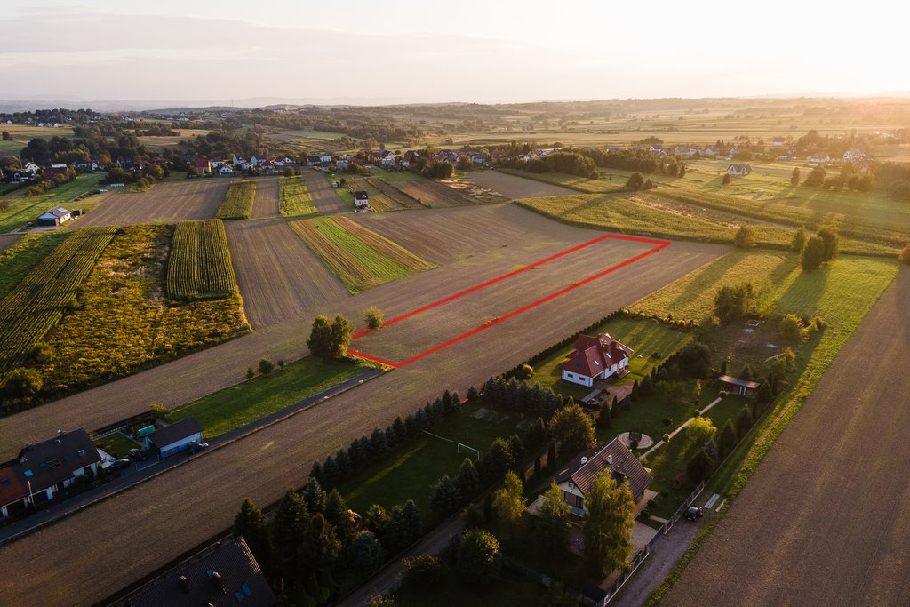
[[[618,485],[606,470],[598,472],[584,503],[588,509],[581,526],[585,567],[591,576],[603,579],[627,567],[632,555],[635,502],[629,481]]]

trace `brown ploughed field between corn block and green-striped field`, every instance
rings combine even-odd
[[[312,314],[350,297],[339,278],[283,219],[231,221],[225,228],[254,329]]]

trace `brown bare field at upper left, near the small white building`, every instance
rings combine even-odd
[[[214,218],[227,184],[227,180],[216,178],[187,179],[159,183],[147,192],[116,192],[76,221],[75,228]]]

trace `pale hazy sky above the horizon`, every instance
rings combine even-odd
[[[0,99],[382,102],[910,90],[903,3],[4,0]]]

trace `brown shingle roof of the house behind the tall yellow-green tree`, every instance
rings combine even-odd
[[[581,463],[584,458],[587,460]],[[642,462],[632,454],[632,451],[619,439],[613,439],[605,446],[587,450],[571,460],[556,475],[556,482],[572,481],[581,493],[587,493],[591,491],[594,475],[603,470],[610,470],[617,481],[621,481],[623,477],[628,479],[632,497],[636,500],[653,481],[651,474],[644,469]]]

